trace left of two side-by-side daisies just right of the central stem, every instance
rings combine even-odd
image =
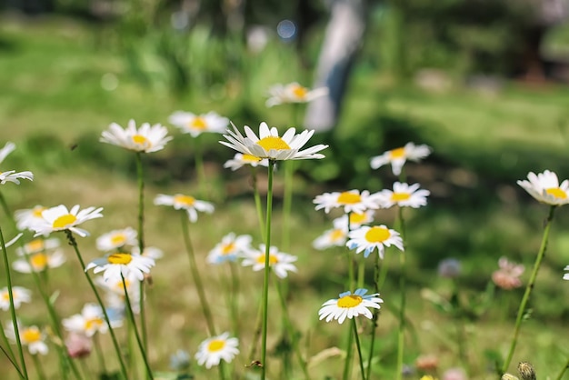
[[[313,200],[316,205],[316,210],[324,208],[324,213],[329,213],[331,209],[344,207],[344,213],[358,213],[362,214],[368,209],[379,208],[377,194],[370,195],[369,191],[364,190],[360,193],[359,190],[344,191],[343,193],[324,193],[316,195]]]

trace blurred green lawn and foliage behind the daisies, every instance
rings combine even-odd
[[[407,166],[408,181],[421,183],[432,195],[426,208],[407,215],[414,300],[409,318],[423,343],[410,348],[405,359],[413,363],[427,352],[441,357],[442,368],[457,365],[452,345],[434,334],[432,325],[424,327],[445,319],[420,291],[448,289],[436,278],[438,263],[447,257],[462,262],[461,283],[473,295],[484,291],[502,255],[526,265],[528,276],[547,210],[515,181],[545,169],[561,179],[569,175],[569,16],[564,1],[554,2],[559,5],[554,11],[547,8],[549,2],[530,0],[5,1],[0,14],[0,144],[17,145],[5,169],[32,170],[35,181],[5,185],[3,193],[14,209],[60,203],[105,206],[105,223],[93,223],[93,237],[85,239],[85,255],[95,257],[97,235],[135,225],[134,156],[98,142],[107,125],[126,125],[130,118],[168,125],[168,115],[176,110],[214,110],[239,127],[255,129],[261,121],[310,127],[288,105],[266,108],[266,92],[276,83],[317,83],[319,56],[338,3],[359,7],[364,35],[340,81],[337,120],[311,141],[330,145],[326,158],[302,163],[295,176],[291,253],[299,255],[300,271],[290,286],[291,302],[302,312],[294,319],[299,330],[312,328],[314,335],[324,335],[313,337],[313,354],[339,345],[315,316],[324,300],[343,290],[344,269],[339,259],[327,258],[332,254],[310,246],[329,228],[329,218],[314,211],[314,195],[389,187],[395,177],[387,167],[372,171],[370,157],[408,141],[427,144],[433,155]],[[290,35],[281,30],[283,25],[288,32],[293,25]],[[177,219],[152,205],[155,194],[191,194],[198,188],[191,137],[174,127],[170,131],[175,139],[165,150],[145,156],[149,244],[166,252],[154,275],[156,296],[150,295],[149,302],[177,315],[165,316],[164,323],[154,320],[161,334],[173,336],[172,342],[156,342],[151,351],[152,360],[163,367],[173,346],[191,349],[203,338],[192,335],[200,332],[202,322],[191,316],[198,311],[185,307],[194,295],[187,295],[193,292],[191,281],[183,269],[185,257],[178,255],[183,246]],[[210,200],[217,207],[214,216],[195,225],[195,244],[204,256],[232,230],[257,232],[248,172],[223,169],[234,153],[217,144],[220,137],[205,135],[200,141]],[[277,177],[279,184],[282,189]],[[277,231],[281,199],[277,186]],[[387,224],[393,219],[390,212],[378,215]],[[538,374],[556,374],[569,355],[569,347],[558,339],[560,332],[566,335],[569,318],[564,302],[569,284],[561,280],[569,264],[568,227],[569,215],[562,208],[531,302],[528,329],[533,330],[514,356],[514,362],[533,361]],[[397,299],[395,260],[392,265],[382,294]],[[85,285],[73,275],[77,267],[61,270],[71,275],[57,277],[55,285],[70,288],[74,278],[76,286]],[[247,286],[255,290],[253,282]],[[85,302],[71,290],[62,292],[62,315],[77,312]],[[490,310],[473,327],[473,363],[478,366],[472,378],[488,376],[484,349],[504,354],[521,295],[522,290],[502,295],[509,299],[502,309]],[[254,318],[255,307],[246,313]],[[34,320],[41,312],[30,315]],[[385,318],[382,328],[389,339],[378,349],[389,361],[394,358],[395,322]],[[544,323],[551,330],[541,328]],[[190,336],[192,345],[173,335],[176,328]],[[378,369],[379,375],[393,365],[386,368]],[[323,367],[318,371],[319,378],[334,373]]]

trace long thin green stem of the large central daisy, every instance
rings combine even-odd
[[[265,223],[265,275],[263,277],[263,332],[261,340],[261,364],[263,365],[261,371],[261,380],[265,380],[266,375],[266,337],[267,337],[267,322],[269,315],[269,274],[271,273],[270,266],[270,249],[271,249],[271,216],[273,214],[273,175],[275,172],[275,160],[269,160],[268,169],[268,185],[266,190],[266,223]]]

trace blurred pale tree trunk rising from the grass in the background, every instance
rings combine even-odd
[[[364,0],[333,0],[318,59],[314,88],[328,87],[327,96],[308,105],[304,125],[316,131],[337,124],[345,87],[365,29]]]

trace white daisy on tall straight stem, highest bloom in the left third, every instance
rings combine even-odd
[[[100,142],[120,146],[135,152],[152,153],[164,149],[171,136],[166,137],[168,130],[164,125],[143,123],[136,128],[135,120],[128,121],[128,126],[112,123],[109,129],[103,131]]]

